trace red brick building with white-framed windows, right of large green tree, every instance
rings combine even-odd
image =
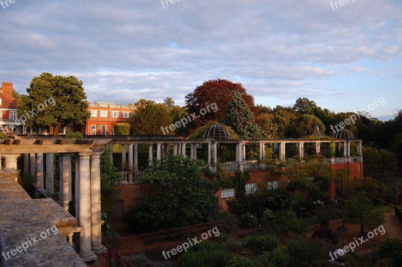
[[[86,120],[83,135],[114,135],[115,124],[126,122],[137,110],[134,105],[118,105],[114,102],[89,103],[91,117]]]

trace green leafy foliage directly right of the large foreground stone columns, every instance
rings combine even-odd
[[[109,150],[104,148],[100,155],[100,201],[102,210],[106,211],[115,205],[115,201],[120,198],[120,190],[115,184],[121,182],[121,176],[117,174],[117,168],[110,160]]]

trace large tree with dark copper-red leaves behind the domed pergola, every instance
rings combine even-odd
[[[187,113],[198,113],[201,108],[205,108],[214,102],[217,104],[218,110],[216,112],[208,112],[202,118],[193,121],[190,127],[194,129],[206,121],[225,119],[227,116],[227,105],[233,99],[235,93],[240,93],[241,98],[247,103],[251,112],[255,115],[258,114],[258,110],[254,106],[253,96],[247,94],[246,89],[241,83],[233,83],[224,79],[209,80],[197,86],[193,92],[185,96]]]

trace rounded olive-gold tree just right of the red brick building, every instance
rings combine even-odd
[[[168,127],[172,119],[163,104],[151,104],[139,107],[127,122],[131,125],[133,135],[147,136],[162,135],[161,127]]]

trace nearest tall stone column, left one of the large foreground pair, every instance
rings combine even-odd
[[[90,153],[79,154],[79,224],[84,229],[79,233],[79,256],[93,257],[91,251],[91,181]]]

